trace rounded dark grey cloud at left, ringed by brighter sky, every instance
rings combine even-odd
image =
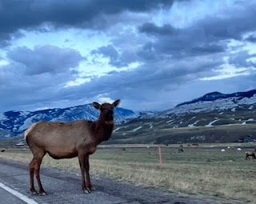
[[[27,75],[66,72],[84,60],[77,50],[57,46],[36,46],[34,50],[18,47],[8,52],[7,57]]]

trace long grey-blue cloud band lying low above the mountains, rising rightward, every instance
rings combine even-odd
[[[62,63],[60,66],[65,62]],[[122,98],[125,102],[138,104],[127,104],[126,107],[133,110],[157,110],[163,106],[169,108],[171,104],[167,106],[167,103],[174,100],[173,96],[168,94],[170,91],[176,90],[185,82],[212,76],[209,67],[218,69],[221,64],[222,58],[218,56],[157,61],[138,69],[91,78],[90,82],[80,86],[64,86],[66,82],[75,79],[69,70],[56,74],[42,73],[35,77],[18,74],[19,66],[13,64],[4,69],[5,81],[2,86],[0,83],[1,104],[6,110],[32,110],[32,107],[65,107],[89,103],[97,99],[98,95],[106,95],[109,98]],[[6,97],[10,92],[12,97]],[[165,100],[157,102],[156,105],[153,96]],[[139,104],[143,101],[146,105],[142,107]]]

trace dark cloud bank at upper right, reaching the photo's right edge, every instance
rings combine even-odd
[[[231,39],[242,41],[243,34],[256,30],[256,4],[240,5],[233,13],[203,18],[193,25],[178,29],[165,24],[157,26],[146,22],[138,26],[142,34],[154,36],[154,42],[147,42],[140,55],[158,58],[170,54],[175,58],[224,52]],[[247,38],[254,42],[254,37]]]

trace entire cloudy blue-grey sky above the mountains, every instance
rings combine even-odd
[[[255,0],[0,0],[0,112],[256,89],[255,19]]]

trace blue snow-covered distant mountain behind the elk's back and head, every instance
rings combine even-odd
[[[22,133],[32,123],[39,121],[48,122],[71,122],[75,120],[91,120],[94,121],[98,118],[99,111],[91,104],[83,106],[74,106],[69,108],[54,108],[38,111],[7,111],[0,114],[0,130],[8,130],[8,134],[1,134],[0,137],[5,135],[11,137],[16,134]],[[132,110],[116,108],[114,110],[114,119],[116,123],[127,122],[132,118],[136,118]]]

